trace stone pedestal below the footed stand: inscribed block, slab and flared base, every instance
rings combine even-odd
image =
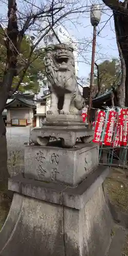
[[[26,146],[25,173],[8,183],[14,197],[0,255],[105,256],[112,228],[102,188],[108,174],[91,143]]]

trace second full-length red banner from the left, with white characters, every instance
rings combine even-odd
[[[113,142],[113,135],[115,131],[115,124],[116,124],[116,111],[110,111],[108,122],[106,124],[105,136],[104,136],[104,145],[110,146]]]

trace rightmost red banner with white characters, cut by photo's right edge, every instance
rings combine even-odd
[[[120,145],[127,145],[127,131],[128,131],[128,110],[122,109],[120,113]]]

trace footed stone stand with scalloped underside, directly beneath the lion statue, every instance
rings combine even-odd
[[[50,138],[60,139],[62,147],[73,147],[76,139],[82,143],[90,142],[94,132],[88,130],[84,123],[79,122],[46,122],[43,127],[31,131],[31,140],[35,145],[48,145]]]

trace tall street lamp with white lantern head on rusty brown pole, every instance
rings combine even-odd
[[[92,93],[94,83],[94,63],[95,63],[95,47],[96,47],[96,27],[100,22],[101,11],[99,5],[92,5],[90,12],[91,24],[93,26],[93,46],[92,46],[92,63],[91,63],[91,77],[90,77],[90,96],[89,96],[89,110],[92,108]],[[89,111],[90,112],[90,111]]]

